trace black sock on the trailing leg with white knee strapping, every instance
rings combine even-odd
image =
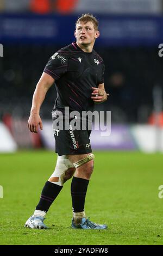
[[[50,181],[47,181],[43,187],[40,202],[36,206],[36,210],[48,211],[54,199],[58,196],[63,186],[59,186]]]

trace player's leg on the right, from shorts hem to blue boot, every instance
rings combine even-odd
[[[86,218],[84,211],[87,186],[93,172],[92,154],[67,155],[68,159],[76,166],[71,182],[71,197],[73,208],[72,228],[106,229],[105,224],[96,224]],[[89,157],[88,157],[89,156]]]

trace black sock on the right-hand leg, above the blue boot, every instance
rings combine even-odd
[[[73,177],[71,182],[71,197],[73,212],[84,211],[85,196],[89,180]]]

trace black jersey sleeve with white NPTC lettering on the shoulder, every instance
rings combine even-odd
[[[48,63],[45,66],[43,72],[52,76],[55,81],[67,72],[68,58],[63,54],[56,52],[49,58]]]

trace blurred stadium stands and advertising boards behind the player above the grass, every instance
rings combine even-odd
[[[111,135],[92,132],[92,148],[163,151],[162,0],[1,0],[0,2],[0,152],[54,149],[51,109],[56,92],[41,108],[44,130],[30,134],[27,120],[37,81],[48,58],[74,41],[74,22],[82,13],[99,20],[95,50],[105,63]],[[2,55],[2,54],[1,54]]]

